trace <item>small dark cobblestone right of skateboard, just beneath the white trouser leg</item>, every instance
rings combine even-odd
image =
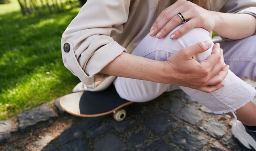
[[[174,112],[180,107],[182,107],[182,103],[176,98],[167,98],[161,102],[161,108],[165,111]]]

